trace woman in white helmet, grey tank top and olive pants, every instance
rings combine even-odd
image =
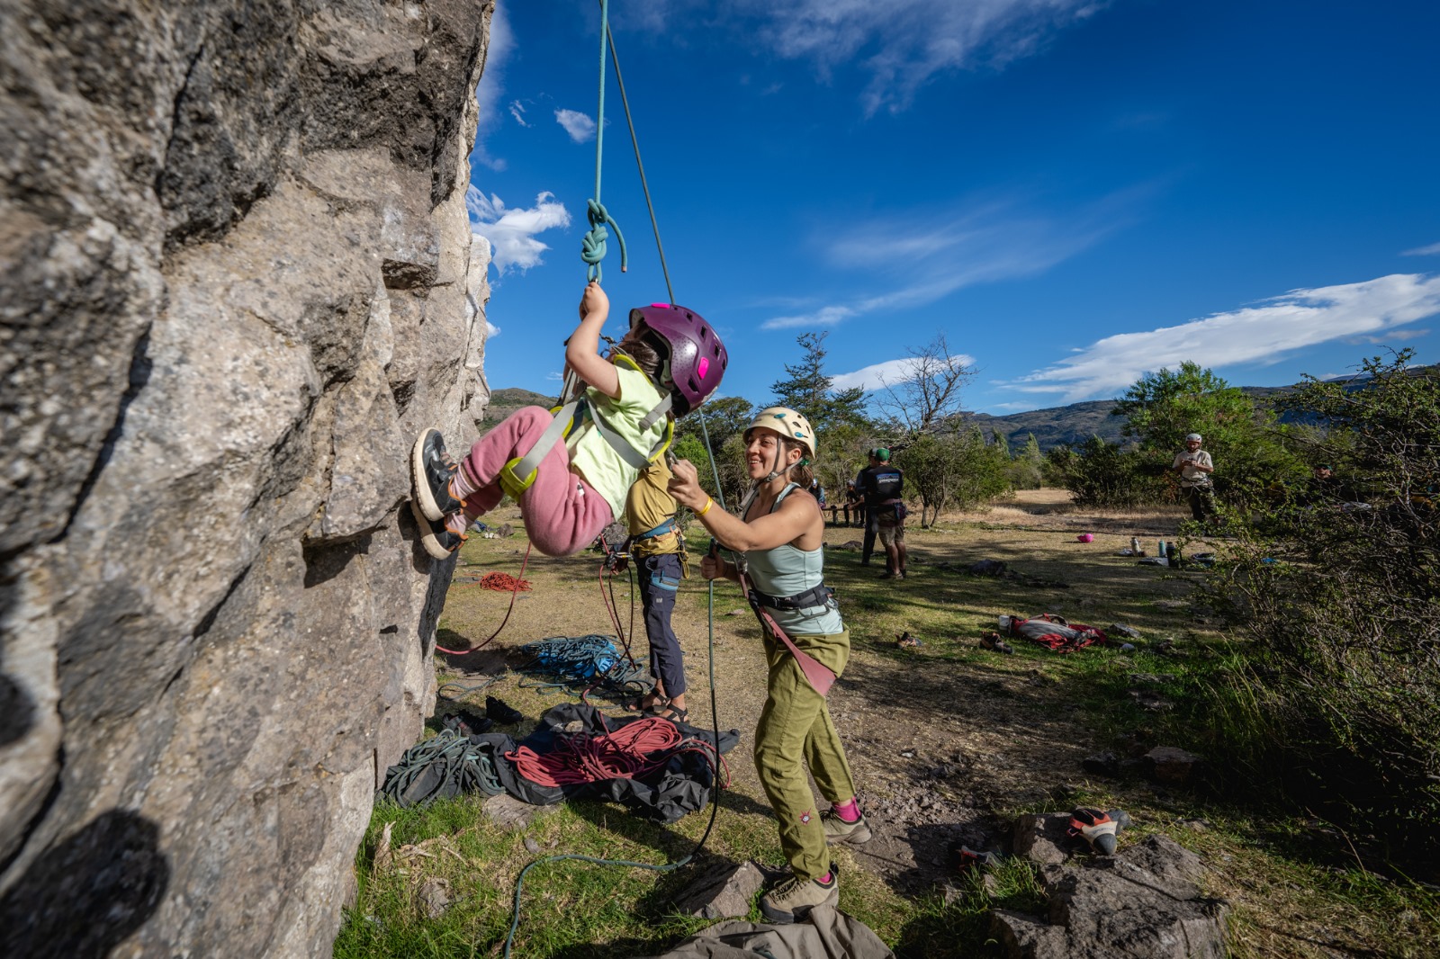
[[[812,480],[808,464],[815,456],[815,433],[795,410],[772,406],[756,413],[744,444],[755,485],[739,517],[716,508],[688,461],[674,465],[670,491],[694,510],[720,546],[736,553],[736,563],[706,556],[701,575],[747,583],[750,603],[765,623],[769,678],[755,730],[755,766],[779,819],[791,875],[760,899],[760,910],[772,923],[792,923],[815,906],[840,901],[827,845],[865,842],[871,832],[855,802],[850,762],[824,690],[809,671],[834,680],[850,659],[850,632],[824,585],[825,518],[815,498],[802,492]],[[821,685],[828,688],[828,681]],[[806,766],[829,802],[818,815]]]

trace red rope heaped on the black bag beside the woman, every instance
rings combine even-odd
[[[661,769],[683,752],[714,753],[710,743],[687,740],[670,720],[651,717],[621,726],[613,733],[577,733],[556,739],[549,753],[521,746],[505,759],[516,772],[541,786],[572,786],[606,779],[634,779]],[[711,757],[711,767],[714,759]],[[727,776],[729,778],[729,776]]]

